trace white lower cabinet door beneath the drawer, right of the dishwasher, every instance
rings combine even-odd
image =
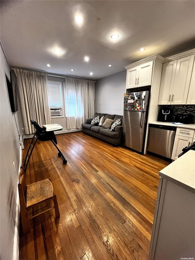
[[[186,146],[191,145],[193,142],[193,138],[191,137],[185,137],[185,136],[179,136],[176,135],[174,145],[173,145],[173,151],[172,151],[172,160],[176,160],[178,158],[178,155],[182,152],[182,149]]]

